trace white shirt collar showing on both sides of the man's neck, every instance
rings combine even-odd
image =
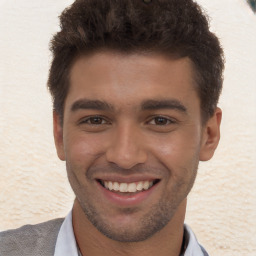
[[[204,256],[196,236],[188,225],[185,225],[189,234],[189,242],[184,256]],[[72,211],[67,215],[61,225],[54,256],[80,256],[72,225]]]

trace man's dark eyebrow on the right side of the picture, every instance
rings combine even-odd
[[[176,99],[146,100],[141,105],[142,110],[174,109],[186,113],[187,108]]]

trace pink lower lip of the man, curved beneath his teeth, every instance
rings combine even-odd
[[[141,204],[145,200],[147,200],[151,196],[151,194],[155,191],[155,189],[158,187],[159,182],[157,184],[153,185],[150,189],[142,191],[142,192],[138,192],[134,195],[132,195],[132,194],[129,194],[129,195],[117,194],[113,191],[110,191],[110,190],[104,188],[98,182],[97,182],[97,184],[99,186],[99,189],[103,193],[103,196],[108,201],[110,201],[110,203],[113,203],[115,205],[122,206],[122,207],[129,207],[129,206],[136,206],[138,204]]]

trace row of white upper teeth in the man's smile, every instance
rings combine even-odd
[[[136,191],[148,190],[153,186],[153,181],[140,181],[137,183],[118,183],[116,181],[103,181],[102,184],[108,190],[114,190],[122,193],[135,193]]]

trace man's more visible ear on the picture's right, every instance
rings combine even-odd
[[[217,148],[220,140],[220,123],[222,111],[216,108],[214,115],[206,122],[203,127],[202,144],[200,149],[200,161],[210,160]]]

